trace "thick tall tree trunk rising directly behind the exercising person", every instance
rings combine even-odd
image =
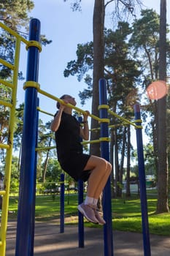
[[[92,113],[98,116],[98,80],[104,78],[104,0],[95,0],[93,10],[93,98]],[[98,127],[92,118],[91,128]],[[90,140],[99,138],[99,132],[91,132]],[[98,144],[90,145],[90,154],[100,156]]]

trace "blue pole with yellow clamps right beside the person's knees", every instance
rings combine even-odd
[[[107,105],[107,88],[106,80],[99,80],[99,105]],[[100,118],[107,118],[107,108],[100,109]],[[101,138],[108,138],[108,123],[101,122]],[[109,161],[109,142],[101,142],[101,157]],[[111,184],[110,178],[104,188],[104,256],[113,255],[113,238],[112,238],[112,203],[111,203]]]

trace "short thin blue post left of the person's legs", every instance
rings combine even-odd
[[[64,174],[61,173],[61,233],[64,233]]]

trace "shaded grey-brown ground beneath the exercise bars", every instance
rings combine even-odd
[[[6,256],[15,256],[16,222],[9,222]],[[85,227],[85,246],[79,248],[77,225],[60,225],[55,221],[36,222],[34,256],[104,256],[102,228]],[[151,255],[169,256],[170,237],[150,235]],[[142,234],[113,231],[114,256],[143,256]],[[106,255],[105,255],[106,256]]]

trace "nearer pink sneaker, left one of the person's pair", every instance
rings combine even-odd
[[[98,219],[95,217],[95,212],[93,208],[89,205],[85,205],[85,203],[81,203],[78,206],[78,210],[82,213],[82,215],[88,219],[90,222],[98,223]]]

